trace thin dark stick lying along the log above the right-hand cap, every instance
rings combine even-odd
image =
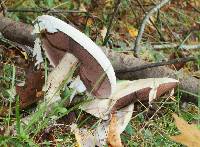
[[[181,63],[181,62],[189,62],[189,61],[195,61],[195,57],[185,57],[185,58],[178,58],[178,59],[173,59],[170,61],[164,61],[164,62],[158,62],[158,63],[151,63],[151,64],[145,64],[141,66],[136,66],[131,69],[124,69],[124,70],[117,70],[116,73],[126,73],[126,72],[135,72],[135,71],[140,71],[144,70],[147,68],[152,68],[152,67],[158,67],[158,66],[164,66],[164,65],[171,65],[171,64],[176,64],[176,63]]]

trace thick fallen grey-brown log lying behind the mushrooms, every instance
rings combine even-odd
[[[33,27],[31,25],[12,21],[11,19],[0,17],[0,32],[12,41],[33,47],[35,37],[31,34]],[[133,55],[126,55],[117,53],[107,48],[102,48],[107,57],[110,59],[115,70],[128,70],[136,66],[145,65],[148,62],[135,58]],[[200,80],[183,72],[176,72],[168,67],[153,67],[136,72],[127,72],[117,74],[119,79],[144,79],[144,78],[158,78],[171,77],[180,80],[180,89],[188,91],[193,94],[198,94],[200,87]],[[187,101],[197,102],[197,98],[183,93],[183,97]]]

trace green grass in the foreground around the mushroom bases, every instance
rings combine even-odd
[[[15,86],[15,76],[13,75],[15,73],[15,67],[10,66],[10,68],[8,68],[9,70],[7,67],[5,68],[5,78],[1,79],[0,82],[4,83],[5,80],[12,77],[9,82],[6,81],[8,84],[7,88],[10,90]],[[1,90],[0,92],[2,93],[3,91]],[[13,124],[15,121],[16,125],[14,128],[6,127],[5,129],[7,131],[14,129],[16,131],[16,135],[9,136],[7,134],[7,136],[0,137],[0,145],[6,146],[8,144],[18,144],[19,146],[39,146],[39,144],[35,143],[35,137],[38,133],[45,128],[48,128],[50,125],[53,125],[55,120],[67,115],[71,111],[78,112],[77,122],[79,123],[79,127],[87,125],[93,120],[92,116],[78,110],[82,103],[75,105],[73,108],[65,108],[64,102],[69,98],[70,91],[63,91],[62,93],[65,93],[63,94],[64,99],[61,103],[55,104],[52,107],[52,111],[47,116],[45,114],[47,105],[43,103],[37,107],[37,111],[33,113],[31,121],[29,121],[27,125],[24,125],[21,122],[22,112],[19,110],[19,97],[16,96],[15,109],[11,109],[10,105],[11,102],[13,102],[13,97],[8,97],[10,102],[9,114],[4,118],[4,121],[1,122],[1,125],[6,127]],[[179,97],[175,98],[176,101],[170,97],[161,98],[160,100],[152,103],[152,107],[140,103],[136,104],[135,111],[137,111],[137,113],[133,115],[131,122],[121,135],[122,141],[127,146],[181,146],[180,144],[177,144],[169,139],[169,136],[179,133],[174,124],[172,113],[179,114],[189,122],[199,122],[200,117],[198,106],[187,103],[187,106],[183,107],[180,95],[181,94],[178,94]],[[15,110],[15,113],[12,112],[13,110]],[[85,115],[85,117],[83,117],[83,115]],[[74,136],[70,132],[60,133],[57,131],[54,135],[56,135],[55,137],[60,140],[58,145],[73,145],[74,143]],[[51,142],[46,140],[43,144],[50,145]]]

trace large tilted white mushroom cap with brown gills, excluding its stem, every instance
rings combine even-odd
[[[34,27],[33,33],[41,34],[42,47],[54,67],[69,52],[80,62],[78,74],[89,92],[99,98],[112,94],[116,86],[114,69],[101,48],[89,37],[49,15],[39,16]]]

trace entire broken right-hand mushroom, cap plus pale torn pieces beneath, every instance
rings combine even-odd
[[[94,130],[93,140],[96,140],[100,146],[105,145],[106,141],[111,146],[115,146],[118,141],[117,146],[119,146],[120,134],[131,120],[134,102],[143,100],[151,102],[166,92],[173,91],[177,84],[178,81],[171,78],[119,81],[109,98],[96,98],[82,107],[86,112],[104,119]]]

